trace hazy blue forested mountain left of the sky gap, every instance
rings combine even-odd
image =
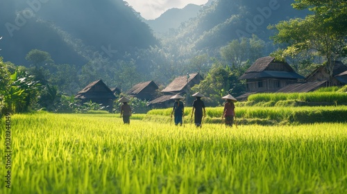
[[[83,65],[94,52],[117,60],[158,44],[122,0],[1,1],[0,26],[1,55],[16,64],[26,64],[34,48],[58,63]]]

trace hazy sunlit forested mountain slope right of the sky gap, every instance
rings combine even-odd
[[[219,48],[232,39],[252,34],[268,42],[269,24],[307,15],[305,10],[292,8],[291,3],[294,1],[219,0],[205,6],[198,17],[186,21],[169,37],[174,44],[185,44],[194,50]]]

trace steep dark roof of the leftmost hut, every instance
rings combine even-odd
[[[97,87],[97,89],[96,89]],[[81,99],[115,99],[116,96],[113,94],[111,89],[105,85],[103,80],[96,80],[91,82],[81,91],[78,91],[75,98]]]

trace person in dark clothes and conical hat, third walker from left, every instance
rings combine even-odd
[[[194,123],[196,127],[201,127],[203,123],[203,118],[206,116],[206,110],[205,110],[205,103],[203,103],[203,100],[201,98],[203,97],[203,94],[197,92],[193,94],[192,96],[196,97],[196,100],[193,102],[193,109],[192,109],[192,116],[194,114]]]

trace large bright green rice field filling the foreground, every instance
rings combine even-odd
[[[2,178],[0,193],[347,193],[346,123],[196,128],[134,118],[11,116],[11,188]],[[4,155],[4,119],[0,129]]]

